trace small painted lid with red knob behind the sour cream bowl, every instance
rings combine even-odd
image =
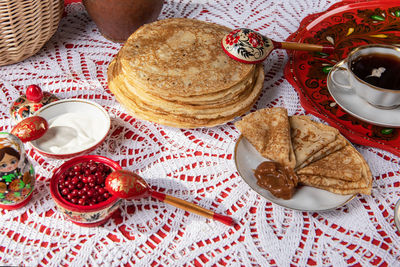
[[[11,117],[14,119],[14,122],[18,123],[32,116],[44,105],[57,101],[58,99],[59,98],[52,93],[42,91],[37,85],[30,85],[27,87],[25,95],[21,95],[11,105]]]

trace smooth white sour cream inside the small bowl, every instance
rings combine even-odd
[[[48,120],[49,129],[35,141],[36,146],[54,154],[75,153],[90,148],[101,140],[103,134],[98,131],[99,120],[94,115],[90,112],[70,112]]]

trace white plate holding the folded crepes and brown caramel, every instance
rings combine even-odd
[[[325,211],[343,206],[355,197],[355,195],[338,195],[318,188],[302,186],[289,200],[276,198],[268,190],[257,185],[253,172],[261,162],[267,160],[246,138],[243,136],[239,138],[235,146],[235,163],[240,176],[254,191],[277,205],[300,211]]]

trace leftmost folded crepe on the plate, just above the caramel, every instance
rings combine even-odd
[[[296,158],[285,108],[265,108],[250,113],[235,126],[265,158],[294,168]]]

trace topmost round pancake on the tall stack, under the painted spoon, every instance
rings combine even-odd
[[[254,72],[221,49],[231,30],[214,23],[173,18],[142,26],[128,38],[119,60],[129,77],[162,96],[201,96],[231,88]]]

